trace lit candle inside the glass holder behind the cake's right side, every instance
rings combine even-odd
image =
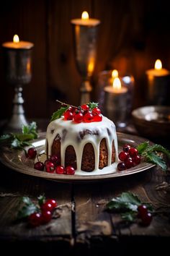
[[[128,123],[128,88],[121,85],[120,78],[115,77],[112,85],[104,87],[104,114],[112,119],[117,127]]]

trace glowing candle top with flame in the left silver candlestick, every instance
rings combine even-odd
[[[4,48],[9,49],[30,49],[34,46],[33,43],[27,42],[27,41],[20,41],[18,35],[14,35],[12,42],[5,42],[2,44]]]

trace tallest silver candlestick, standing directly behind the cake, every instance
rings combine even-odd
[[[87,17],[84,18],[84,14]],[[97,33],[99,20],[89,19],[89,14],[83,12],[81,19],[71,20],[73,25],[73,42],[76,56],[76,65],[81,74],[80,104],[90,101],[92,90],[90,79],[94,71],[97,52]]]

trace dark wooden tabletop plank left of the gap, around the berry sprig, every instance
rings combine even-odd
[[[71,244],[72,239],[72,202],[71,184],[62,184],[33,176],[18,174],[1,166],[0,182],[0,237],[17,240],[63,240]],[[60,218],[54,218],[50,223],[30,229],[27,221],[16,221],[17,211],[21,207],[20,198],[29,196],[36,200],[44,194],[47,198],[55,198],[58,208],[55,210]]]

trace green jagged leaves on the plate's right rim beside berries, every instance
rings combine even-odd
[[[170,151],[162,145],[150,145],[148,141],[141,143],[137,147],[138,153],[149,163],[160,166],[164,171],[168,166],[164,160],[164,155],[170,159]]]

